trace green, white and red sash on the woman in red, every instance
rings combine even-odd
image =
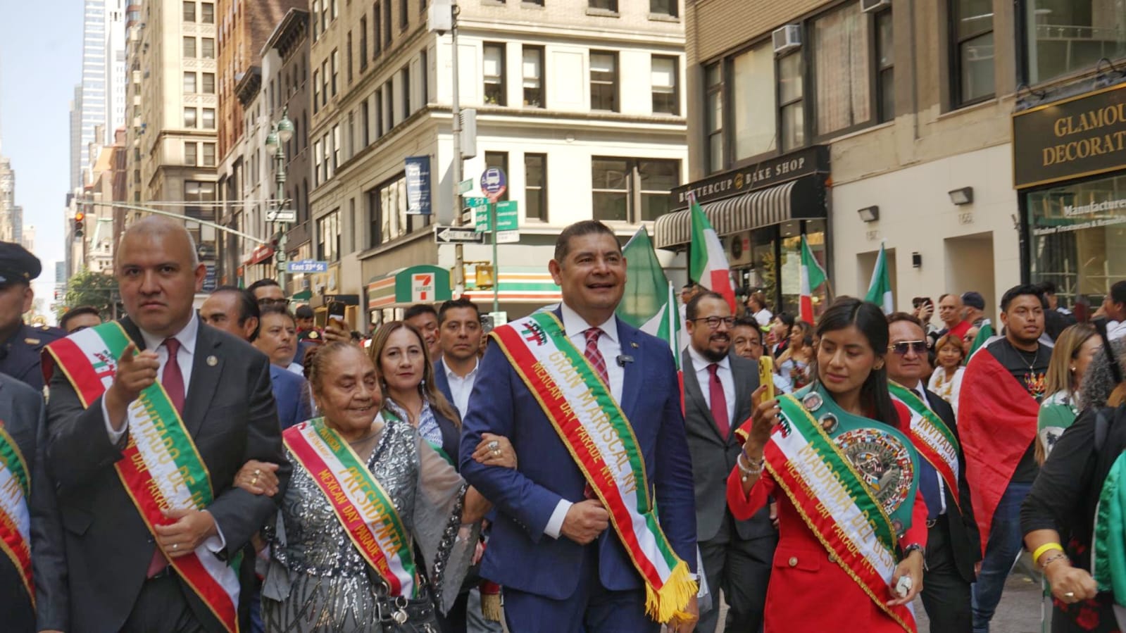
[[[888,606],[897,536],[848,457],[793,395],[778,399],[781,413],[763,449],[765,467],[817,541],[872,601],[904,631],[915,623],[905,606]]]

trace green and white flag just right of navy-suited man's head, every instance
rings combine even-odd
[[[617,314],[626,323],[646,335],[652,335],[672,350],[680,377],[681,407],[683,407],[683,376],[680,372],[680,310],[677,293],[664,276],[656,259],[653,242],[644,226],[622,249],[626,258],[626,289],[618,304]]]

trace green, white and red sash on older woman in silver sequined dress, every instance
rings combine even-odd
[[[324,493],[360,555],[386,581],[390,594],[418,597],[411,540],[395,503],[351,446],[323,418],[287,428],[282,439]]]

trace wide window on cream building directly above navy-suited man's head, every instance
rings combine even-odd
[[[680,161],[591,159],[595,220],[650,222],[669,212],[669,193],[680,185]]]

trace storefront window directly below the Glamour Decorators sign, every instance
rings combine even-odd
[[[1126,176],[1028,194],[1033,283],[1054,282],[1060,304],[1098,309],[1126,278]]]

